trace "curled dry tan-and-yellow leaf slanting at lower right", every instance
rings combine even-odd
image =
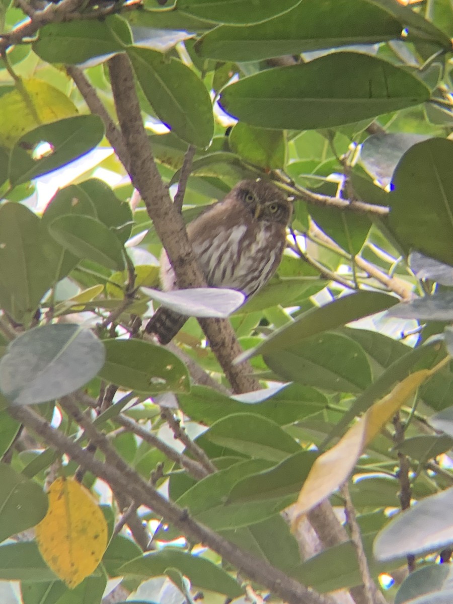
[[[387,396],[374,403],[332,449],[318,457],[295,504],[293,530],[304,514],[332,495],[347,480],[367,445],[431,375],[432,370],[428,369],[411,373]]]

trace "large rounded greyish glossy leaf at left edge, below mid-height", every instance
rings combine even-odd
[[[0,359],[0,390],[13,405],[70,394],[104,364],[103,344],[79,325],[53,324],[22,333]]]

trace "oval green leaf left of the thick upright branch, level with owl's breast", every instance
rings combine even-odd
[[[116,271],[124,269],[123,245],[99,220],[80,214],[63,214],[50,223],[48,230],[71,254]]]

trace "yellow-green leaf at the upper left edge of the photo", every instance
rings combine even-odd
[[[0,97],[0,146],[11,149],[30,130],[78,114],[77,108],[58,88],[42,80],[22,80]]]

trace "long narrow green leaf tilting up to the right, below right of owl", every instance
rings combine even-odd
[[[316,333],[335,329],[335,327],[350,323],[350,321],[381,312],[381,310],[388,309],[396,303],[397,298],[377,292],[359,291],[355,294],[342,296],[324,306],[307,310],[307,312],[298,316],[293,323],[289,323],[274,332],[262,344],[240,355],[239,359],[243,360],[259,354],[287,350],[297,345],[303,338],[309,338]]]

